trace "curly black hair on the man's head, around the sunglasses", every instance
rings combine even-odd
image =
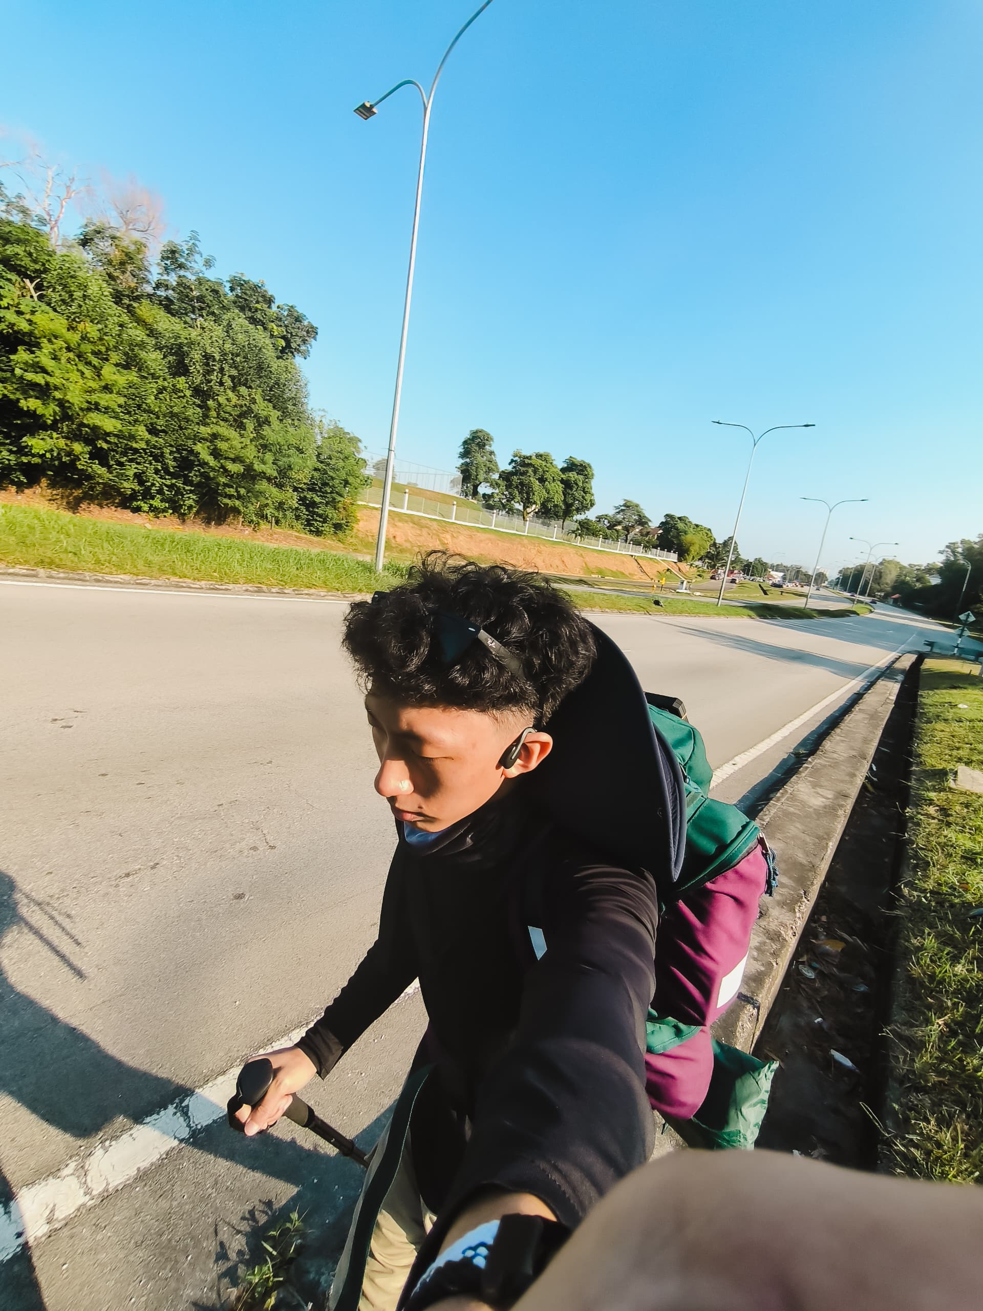
[[[442,612],[484,628],[522,674],[477,640],[448,662]],[[401,586],[355,602],[342,642],[362,686],[384,696],[489,714],[524,711],[537,724],[583,682],[595,657],[587,620],[539,574],[443,551],[423,556]]]

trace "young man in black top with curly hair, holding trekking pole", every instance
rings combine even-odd
[[[415,1066],[434,1070],[359,1306],[396,1307],[421,1245],[414,1311],[484,1304],[447,1301],[447,1266],[426,1277],[440,1251],[506,1215],[570,1231],[651,1152],[645,1021],[679,771],[628,662],[535,576],[431,556],[353,604],[343,642],[397,830],[379,937],[300,1042],[269,1053],[273,1086],[240,1118],[273,1124],[419,978]],[[621,821],[640,810],[634,860]]]

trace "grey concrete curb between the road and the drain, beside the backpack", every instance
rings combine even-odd
[[[779,861],[779,886],[761,901],[738,998],[713,1027],[722,1042],[750,1051],[761,1032],[915,658],[889,665],[758,815]]]

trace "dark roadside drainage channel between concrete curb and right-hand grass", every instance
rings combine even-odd
[[[755,1045],[781,1063],[759,1146],[877,1168],[917,663],[879,735],[815,907]]]

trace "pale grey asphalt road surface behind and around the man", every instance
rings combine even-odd
[[[393,834],[338,650],[342,614],[330,600],[0,581],[9,1190],[305,1024],[371,943]],[[592,617],[646,688],[685,700],[714,767],[776,738],[733,768],[725,800],[752,796],[856,679],[937,629],[887,610],[798,624]],[[421,1032],[410,996],[312,1100],[350,1133],[371,1125]],[[354,1167],[278,1134],[245,1145],[212,1127],[94,1206],[63,1189],[67,1222],[33,1266],[0,1266],[0,1280],[16,1273],[5,1306],[215,1304],[250,1205],[298,1194],[329,1217],[355,1186]]]

